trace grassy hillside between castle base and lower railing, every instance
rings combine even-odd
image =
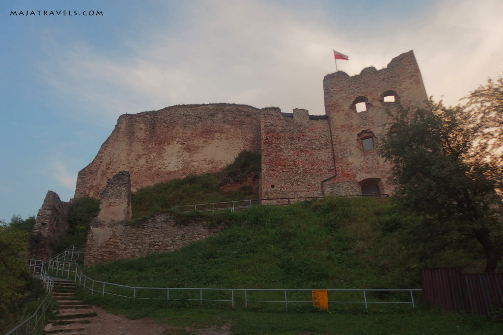
[[[416,288],[422,267],[484,266],[475,247],[430,255],[410,243],[404,231],[417,218],[399,216],[389,198],[325,198],[206,215],[233,223],[175,252],[86,272],[133,286]]]

